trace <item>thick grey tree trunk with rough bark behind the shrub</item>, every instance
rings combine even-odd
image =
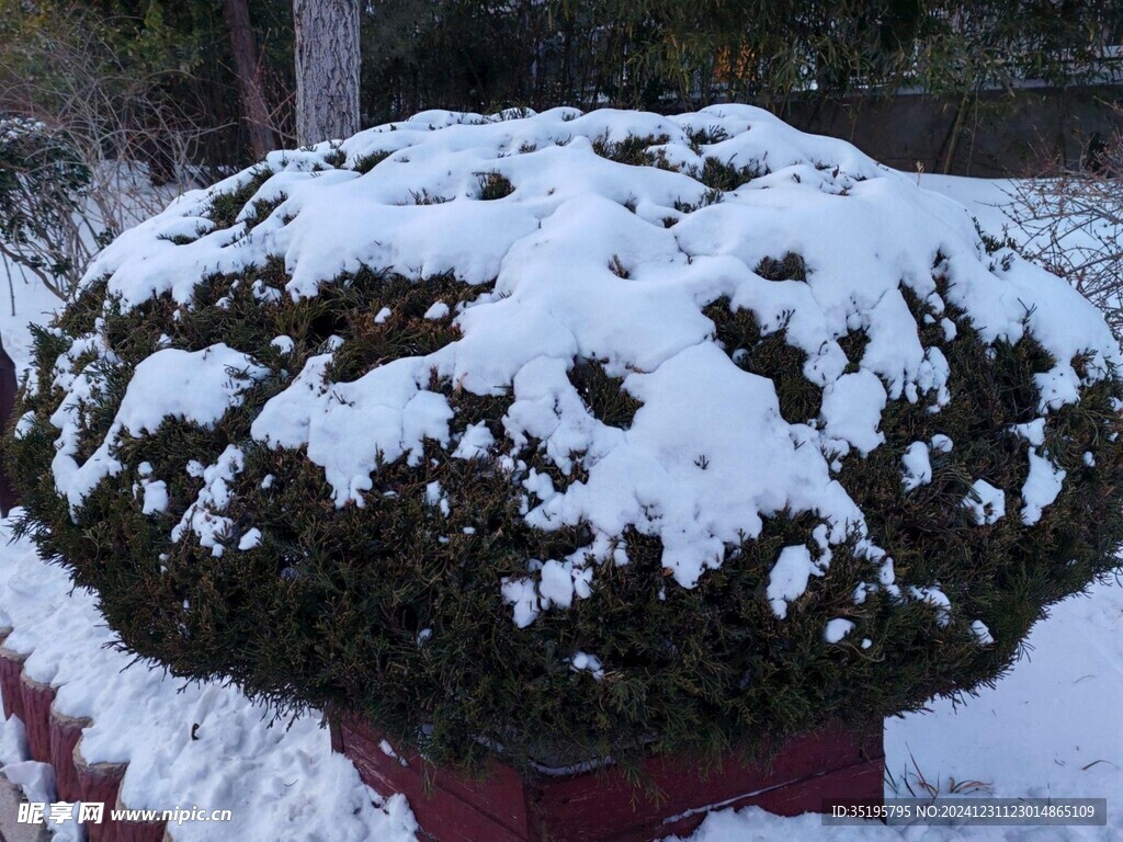
[[[301,145],[358,131],[358,0],[293,0],[296,137]]]

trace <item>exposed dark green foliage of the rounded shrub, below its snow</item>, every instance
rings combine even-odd
[[[220,198],[222,207],[211,209],[216,222],[246,210],[253,193],[243,185]],[[807,277],[795,254],[756,271],[778,283]],[[943,271],[938,264],[933,280],[947,301]],[[366,716],[437,763],[471,767],[497,745],[517,766],[611,754],[634,768],[652,752],[683,751],[714,760],[730,748],[760,752],[829,721],[860,727],[919,710],[933,695],[990,684],[1050,604],[1117,564],[1120,381],[1088,379],[1079,403],[1048,415],[1042,450],[1067,478],[1040,522],[1026,525],[1015,503],[1029,443],[1011,428],[1040,414],[1034,376],[1053,360],[1028,337],[988,347],[968,314],[950,305],[937,312],[902,286],[922,344],[948,359],[950,401],[939,412],[929,411],[930,396],[891,401],[885,443],[867,458],[840,457],[833,470],[866,513],[870,540],[895,560],[897,580],[942,588],[951,600],[948,616],[885,588],[856,602],[857,585],[877,582],[880,570],[855,551],[851,536],[832,548],[828,575],[813,577],[788,616],[776,617],[766,588],[780,550],[805,546],[822,558],[813,536],[820,519],[778,511],[759,536],[727,546],[721,566],[690,589],[663,567],[657,538],[626,531],[614,549],[627,564],[597,566],[588,597],[519,629],[503,579],[526,576],[528,559],[579,552],[592,536],[584,523],[529,525],[526,488],[536,483],[527,481],[536,472],[556,488],[585,482],[593,456],[551,455],[535,440],[515,445],[504,432],[510,394],[477,395],[433,373],[429,388],[455,413],[451,445],[430,440],[413,465],[380,464],[362,505],[337,507],[323,469],[303,450],[270,448],[250,434],[265,402],[313,355],[338,346],[327,376],[354,382],[376,366],[448,346],[459,336],[455,314],[494,290],[451,274],[410,281],[362,268],[293,300],[289,281],[275,257],[206,277],[186,304],[165,295],[126,309],[107,298],[103,280],[85,286],[51,329],[35,332],[36,385],[25,386],[16,410],[31,413],[30,423],[6,439],[26,503],[20,529],[75,584],[97,589],[122,647],[176,676],[229,679],[283,712],[327,707]],[[437,302],[449,314],[424,318]],[[772,381],[784,419],[820,422],[821,390],[804,375],[806,355],[788,344],[786,322],[763,327],[724,298],[704,312],[734,363]],[[955,324],[953,335],[941,319]],[[51,418],[63,397],[53,385],[55,367],[95,330],[112,356],[84,350],[74,363],[98,375],[75,409],[80,459],[104,438],[133,370],[159,348],[226,342],[267,373],[247,383],[244,402],[211,429],[168,418],[154,431],[121,438],[111,454],[119,473],[71,511],[51,469],[58,436]],[[291,347],[274,344],[282,336]],[[866,335],[838,340],[857,367]],[[1074,365],[1085,372],[1087,360]],[[575,359],[569,378],[595,418],[626,431],[641,405],[605,366]],[[491,452],[453,458],[457,438],[481,423],[496,441]],[[906,491],[904,452],[935,434],[949,436],[953,448],[933,449],[932,482]],[[189,461],[212,464],[231,445],[245,464],[229,486],[222,555],[193,536],[173,541],[202,487]],[[710,467],[704,452],[694,464]],[[165,512],[143,512],[138,489],[149,477],[167,483]],[[962,505],[978,478],[1007,494],[1007,515],[989,525],[975,523]],[[447,495],[447,513],[433,503],[433,484]],[[250,530],[259,530],[261,542],[238,549]],[[855,630],[827,644],[824,624],[837,617]],[[993,644],[976,640],[975,620],[987,624]],[[600,680],[572,668],[577,651],[603,660]]]

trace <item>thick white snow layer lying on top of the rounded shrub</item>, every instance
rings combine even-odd
[[[701,130],[713,143],[700,143]],[[615,163],[594,148],[628,137],[650,137],[678,171]],[[326,156],[340,152],[348,164],[381,159],[366,173],[335,168]],[[706,158],[749,167],[757,177],[713,201],[694,177]],[[247,208],[257,200],[279,202],[276,208],[253,228],[244,211],[232,227],[216,229],[206,216],[211,198],[255,176],[263,183]],[[483,201],[485,184],[500,179],[511,192]],[[803,258],[805,280],[756,274],[763,259],[787,253]],[[627,528],[658,536],[664,566],[684,587],[778,512],[811,513],[829,528],[828,544],[862,534],[864,513],[832,479],[832,467],[882,445],[888,401],[920,402],[938,413],[949,395],[948,363],[921,344],[902,285],[935,312],[947,304],[966,310],[987,341],[1031,331],[1058,360],[1038,377],[1043,414],[1076,399],[1080,381],[1069,360],[1077,353],[1090,355],[1089,378],[1123,361],[1098,313],[1067,284],[1012,254],[988,258],[960,204],[846,143],[801,134],[746,106],[676,117],[556,109],[500,119],[429,111],[360,132],[338,148],[272,153],[256,168],[189,193],[127,231],[97,258],[85,283],[108,276],[109,292],[126,308],[165,293],[190,305],[204,275],[270,258],[283,260],[294,299],[317,295],[320,284],[362,266],[418,280],[450,272],[465,284],[495,284],[455,313],[462,338],[440,350],[347,383],[327,376],[329,350],[309,359],[266,403],[254,438],[305,448],[323,467],[336,505],[363,504],[380,459],[416,464],[427,439],[451,446],[453,410],[428,388],[436,372],[478,394],[509,392],[513,405],[504,425],[515,446],[533,437],[566,472],[572,454],[585,455],[587,481],[564,492],[547,477],[528,481],[530,523],[554,529],[587,522],[602,549]],[[933,273],[948,281],[947,301]],[[739,368],[730,358],[737,349],[718,345],[702,309],[723,296],[733,309],[751,311],[765,332],[785,328],[787,341],[807,355],[804,375],[823,390],[818,419],[804,424],[782,418],[773,384]],[[450,314],[447,302],[426,313]],[[383,310],[378,319],[386,315]],[[862,330],[868,344],[853,360],[858,370],[847,373],[838,340],[853,330]],[[274,344],[283,349],[284,340]],[[85,350],[100,342],[99,336],[80,340]],[[72,504],[115,472],[112,438],[120,431],[152,429],[164,415],[188,412],[206,422],[238,401],[241,384],[255,376],[254,360],[222,359],[234,353],[221,347],[209,351],[209,364],[163,350],[138,367],[128,406],[83,466],[74,461],[73,415],[64,410],[98,384],[93,374],[67,368],[79,349],[64,355],[60,370],[71,393],[55,418],[55,478]],[[173,354],[180,355],[176,370],[193,378],[190,410],[182,405],[189,391],[182,375],[164,377],[163,385],[148,376]],[[578,357],[603,360],[610,374],[626,376],[624,388],[642,402],[630,430],[590,414],[567,377]],[[226,376],[231,366],[244,372],[243,381]],[[143,396],[143,420],[135,418],[134,395]],[[482,456],[494,443],[476,430],[455,455]],[[932,446],[942,442],[933,439]],[[930,476],[923,457],[919,447],[910,451],[906,486]],[[1053,497],[1041,482],[1029,491],[1032,518],[1034,506]],[[980,522],[1001,516],[1002,501],[987,494],[990,506]],[[158,503],[154,491],[150,505]],[[201,500],[200,511],[221,524],[219,506]],[[177,534],[194,532],[213,546],[210,527],[198,519],[190,524]],[[822,558],[829,562],[829,553]],[[574,568],[582,564],[575,560]],[[806,576],[777,567],[769,596],[779,612],[802,593]],[[556,574],[528,561],[527,579],[496,583],[519,624],[572,602]]]

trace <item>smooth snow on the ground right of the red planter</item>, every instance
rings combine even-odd
[[[1123,839],[1123,587],[1056,606],[1026,641],[1026,655],[990,690],[958,707],[885,723],[886,797],[923,796],[917,777],[947,795],[1107,798],[1104,827],[823,826],[816,815],[779,818],[758,808],[711,814],[691,842],[1110,842]],[[969,785],[978,781],[985,787]]]

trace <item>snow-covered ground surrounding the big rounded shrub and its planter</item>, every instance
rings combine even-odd
[[[968,204],[984,228],[999,232],[1002,182],[924,176],[926,187]],[[0,275],[2,277],[2,275]],[[17,287],[17,314],[0,314],[4,346],[28,361],[28,320],[44,321],[49,294]],[[0,532],[9,525],[0,523]],[[1057,606],[1031,634],[1024,657],[993,690],[958,707],[886,723],[886,795],[921,793],[919,778],[947,793],[1107,797],[1106,827],[825,827],[818,815],[779,818],[759,809],[720,811],[693,842],[770,840],[1097,840],[1123,838],[1123,588],[1093,588]],[[128,761],[122,797],[130,807],[229,808],[219,831],[206,823],[172,829],[188,840],[369,840],[411,842],[414,823],[403,799],[383,803],[354,767],[332,756],[314,717],[270,727],[267,714],[236,689],[188,686],[131,665],[106,648],[112,635],[84,593],[70,593],[65,573],[47,567],[25,542],[0,547],[0,612],[16,632],[8,646],[33,651],[30,675],[60,685],[58,705],[89,715],[88,759]],[[193,726],[194,736],[192,739]],[[19,762],[20,729],[0,731],[0,762]],[[34,778],[34,768],[11,769]],[[63,825],[73,829],[73,825]],[[72,832],[72,831],[71,831]]]

